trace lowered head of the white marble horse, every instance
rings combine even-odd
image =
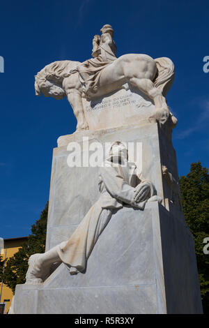
[[[39,74],[39,73],[38,73]],[[65,91],[56,82],[47,80],[45,77],[35,76],[35,91],[36,96],[43,94],[45,97],[52,97],[57,100],[66,96]]]

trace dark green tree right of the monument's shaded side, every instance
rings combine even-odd
[[[203,240],[209,237],[208,169],[200,162],[192,163],[190,172],[180,177],[179,183],[185,220],[194,235],[203,311],[209,313],[209,254],[203,253]]]

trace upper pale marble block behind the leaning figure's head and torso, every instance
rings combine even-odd
[[[162,165],[166,165],[169,172],[178,180],[175,150],[157,124],[142,122],[140,125],[111,128],[108,131],[75,133],[60,137],[59,144],[62,145],[55,148],[53,152],[46,251],[60,244],[63,240],[69,239],[88,210],[100,197],[98,188],[99,167],[91,165],[85,167],[68,166],[70,154],[67,149],[68,144],[77,142],[81,147],[81,157],[83,158],[85,153],[83,137],[89,138],[89,149],[95,142],[101,144],[102,149],[105,149],[106,144],[111,144],[116,140],[127,145],[134,144],[135,151],[133,154],[129,151],[129,161],[136,162],[139,172],[142,172],[146,179],[153,182],[157,195],[162,198],[164,207],[167,207],[172,213],[178,212],[176,214],[178,218],[182,218],[185,222],[178,204],[171,203],[171,197],[167,192],[167,189],[170,191],[170,188],[166,185],[167,182],[164,181],[162,174]],[[137,144],[139,145],[138,149]],[[76,154],[80,154],[79,150]],[[91,154],[92,151],[89,151],[89,156]],[[104,155],[103,152],[102,156]],[[139,162],[137,161],[138,155]],[[166,200],[169,202],[168,206]]]

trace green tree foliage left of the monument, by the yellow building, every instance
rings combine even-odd
[[[47,233],[47,214],[48,202],[45,209],[40,214],[40,219],[31,227],[28,242],[6,260],[6,267],[3,272],[3,283],[5,283],[13,292],[15,286],[19,283],[25,283],[25,275],[28,269],[29,257],[34,253],[45,252],[45,240]],[[2,279],[1,259],[0,259],[0,280]]]

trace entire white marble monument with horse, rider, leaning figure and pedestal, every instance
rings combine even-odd
[[[117,58],[112,27],[100,31],[91,59],[36,75],[36,95],[66,96],[77,129],[57,140],[45,253],[10,313],[202,313],[166,100],[173,62]]]

